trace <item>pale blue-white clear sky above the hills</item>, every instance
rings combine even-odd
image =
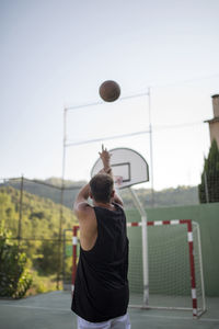
[[[104,137],[151,122],[152,144],[104,144],[140,152],[155,190],[198,184],[219,93],[218,12],[218,0],[1,0],[0,178],[61,177],[68,109],[67,141],[100,140],[65,148],[65,178],[89,180]],[[84,107],[108,79],[122,100]]]

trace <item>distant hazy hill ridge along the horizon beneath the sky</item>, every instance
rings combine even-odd
[[[73,200],[79,191],[79,189],[85,184],[85,181],[65,181],[64,190],[64,205],[71,208]],[[4,186],[13,186],[15,189],[21,189],[21,179],[10,180],[4,182]],[[61,179],[50,178],[45,181],[39,180],[23,180],[23,189],[32,194],[50,198],[55,203],[60,204],[61,202]],[[152,206],[152,196],[150,189],[138,189],[137,194],[145,205],[145,207]],[[125,205],[127,207],[132,207],[131,195],[128,190],[120,191],[120,195],[124,198]],[[191,205],[199,204],[198,201],[198,190],[197,186],[177,186],[176,189],[170,188],[162,191],[153,192],[153,206],[176,206],[176,205]]]

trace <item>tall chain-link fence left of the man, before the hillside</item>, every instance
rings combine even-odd
[[[77,223],[71,208],[79,189],[24,177],[0,184],[0,218],[11,231],[10,239],[26,253],[35,275],[42,282],[47,277],[46,284],[56,288],[70,283],[71,228]]]

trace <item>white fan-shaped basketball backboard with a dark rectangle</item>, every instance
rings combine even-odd
[[[149,181],[148,163],[140,154],[130,148],[114,148],[110,152],[114,181],[118,189]],[[103,163],[99,158],[91,170],[91,177],[101,169]]]

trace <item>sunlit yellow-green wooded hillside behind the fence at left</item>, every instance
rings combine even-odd
[[[19,218],[22,217],[21,236],[32,239],[57,239],[60,226],[60,204],[23,191],[22,213],[20,213],[20,191],[12,186],[0,186],[0,218],[19,234]],[[62,207],[62,229],[71,229],[77,219],[69,207]]]

